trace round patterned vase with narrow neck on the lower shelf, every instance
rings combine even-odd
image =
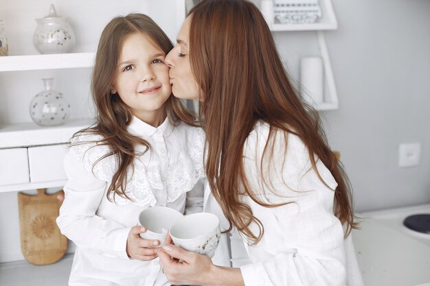
[[[40,126],[61,125],[67,121],[70,105],[63,99],[63,94],[54,91],[53,78],[43,78],[45,91],[33,97],[30,103],[30,116]]]

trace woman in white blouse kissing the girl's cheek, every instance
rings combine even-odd
[[[202,1],[166,63],[174,95],[200,100],[207,179],[252,261],[218,267],[168,244],[159,258],[170,283],[363,285],[348,178],[317,113],[291,86],[258,8]]]

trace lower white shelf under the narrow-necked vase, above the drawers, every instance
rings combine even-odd
[[[89,127],[95,119],[69,119],[60,126],[42,127],[34,122],[0,126],[0,148],[67,143],[73,133]]]

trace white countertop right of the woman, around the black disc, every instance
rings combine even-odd
[[[430,204],[359,214],[361,230],[352,238],[366,286],[430,283],[430,235],[402,224],[414,213],[430,213]]]

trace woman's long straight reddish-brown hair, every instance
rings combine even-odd
[[[356,227],[350,182],[328,147],[317,112],[302,102],[288,80],[258,8],[243,0],[203,0],[190,17],[190,63],[202,91],[199,117],[208,143],[206,175],[229,219],[229,230],[234,224],[253,243],[264,234],[260,220],[241,202],[242,194],[262,206],[282,205],[256,198],[245,177],[245,141],[256,123],[264,121],[270,125],[264,155],[272,155],[275,131],[283,130],[299,136],[308,147],[310,163],[321,181],[312,154],[330,170],[338,184],[334,213],[347,224],[348,235]],[[259,226],[260,234],[251,232],[251,223]]]

